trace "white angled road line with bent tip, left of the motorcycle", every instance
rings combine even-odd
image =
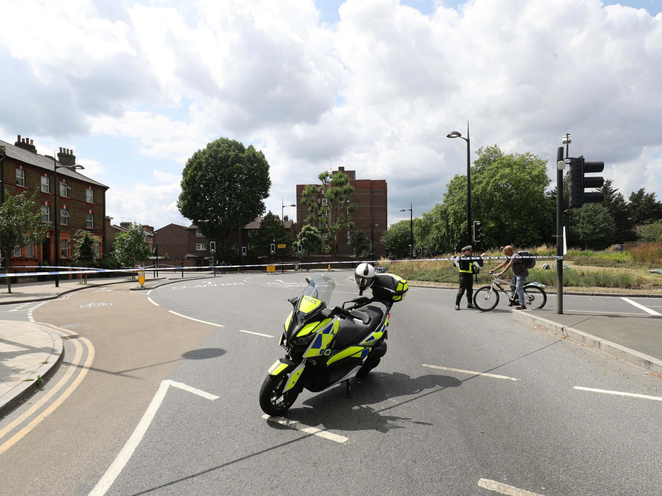
[[[175,382],[168,379],[162,381],[156,394],[154,395],[154,398],[152,398],[152,402],[147,407],[144,415],[142,415],[142,419],[140,419],[136,429],[133,431],[133,434],[131,434],[130,438],[128,438],[126,441],[126,444],[124,444],[124,448],[122,448],[122,450],[117,455],[117,458],[115,458],[115,461],[113,461],[111,466],[109,466],[105,474],[101,476],[101,479],[99,479],[99,482],[97,482],[97,485],[95,485],[88,496],[103,496],[105,495],[106,491],[110,489],[111,485],[113,485],[113,482],[115,482],[117,476],[120,474],[120,472],[122,472],[124,466],[126,466],[126,462],[128,462],[129,458],[131,458],[131,455],[138,447],[138,444],[140,444],[140,441],[147,432],[148,427],[150,427],[150,423],[152,423],[154,415],[156,415],[156,411],[161,406],[161,403],[164,400],[166,392],[170,386],[197,394],[207,399],[211,399],[211,401],[218,399],[218,396],[216,395],[192,388],[191,386],[187,386],[181,382]]]

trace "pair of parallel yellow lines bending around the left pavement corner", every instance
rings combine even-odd
[[[68,333],[68,332],[63,333],[62,331],[57,331],[57,330],[56,330],[56,332],[60,335],[63,335],[63,336],[68,336],[68,335],[72,334],[72,333]],[[30,422],[28,425],[23,427],[23,429],[21,429],[21,431],[14,434],[11,438],[9,438],[4,444],[2,444],[0,446],[0,454],[7,451],[9,448],[11,448],[11,446],[13,446],[17,442],[19,442],[19,440],[21,440],[23,438],[23,436],[25,436],[25,434],[32,431],[32,429],[34,429],[37,425],[39,425],[42,420],[46,419],[46,417],[48,417],[48,415],[53,413],[55,411],[55,409],[57,407],[59,407],[64,402],[64,400],[69,397],[69,395],[71,393],[73,393],[73,390],[75,390],[75,388],[77,388],[78,385],[85,378],[85,376],[87,375],[87,371],[89,370],[89,367],[92,364],[92,360],[94,360],[95,350],[94,350],[94,346],[92,345],[92,343],[89,340],[85,339],[84,337],[79,337],[75,341],[72,341],[73,345],[76,348],[75,357],[77,357],[78,359],[80,359],[80,356],[82,354],[82,347],[81,347],[81,345],[78,344],[79,341],[83,341],[83,343],[85,343],[85,345],[87,346],[87,358],[85,359],[85,364],[83,364],[83,368],[81,368],[79,374],[73,380],[71,385],[66,390],[64,390],[64,392],[60,396],[58,396],[58,398],[55,401],[53,401],[53,403],[51,403],[48,408],[46,408],[44,411],[42,411],[42,413],[40,413],[38,415],[38,417],[36,417],[36,419],[32,420],[32,422]],[[26,411],[23,415],[21,415],[21,417],[17,418],[11,424],[7,425],[7,427],[5,427],[5,429],[7,429],[7,432],[10,431],[11,429],[13,429],[13,427],[15,427],[15,425],[17,425],[17,423],[19,423],[20,421],[23,421],[23,419],[27,418],[29,415],[32,415],[32,413],[34,413],[34,411],[38,407],[43,405],[44,402],[48,401],[48,399],[50,397],[52,397],[52,395],[54,395],[54,393],[56,393],[60,388],[62,388],[62,385],[64,385],[67,382],[67,380],[71,377],[71,374],[73,374],[73,371],[77,369],[77,364],[78,364],[78,362],[75,362],[75,358],[74,358],[74,363],[72,363],[70,365],[70,367],[71,367],[70,370],[68,370],[67,373],[65,374],[65,377],[63,377],[62,380],[60,380],[60,382],[58,382],[58,385],[56,386],[56,388],[54,388],[53,390],[48,392],[48,394],[46,394],[44,397],[42,397],[42,399],[40,399],[34,405],[34,407],[32,407],[30,410]],[[71,371],[71,374],[70,374],[70,371]],[[5,429],[3,429],[3,431],[0,431],[0,436],[5,434]]]

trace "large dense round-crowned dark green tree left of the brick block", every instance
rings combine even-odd
[[[226,253],[226,239],[264,212],[271,179],[264,153],[253,145],[219,138],[187,160],[181,179],[179,212],[191,219]]]

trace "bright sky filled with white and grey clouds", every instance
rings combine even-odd
[[[498,144],[604,160],[662,196],[662,0],[3,1],[0,138],[75,150],[107,213],[185,224],[187,159],[220,136],[271,164],[267,208],[330,165],[387,179],[389,222]],[[552,169],[549,169],[550,175]],[[293,214],[294,212],[291,212]]]

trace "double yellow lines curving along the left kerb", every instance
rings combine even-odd
[[[66,329],[62,329],[62,327],[57,327],[55,325],[51,324],[43,324],[43,325],[48,325],[50,329],[53,329],[56,333],[58,333],[61,336],[67,337],[71,335],[75,335],[74,333],[71,333],[70,331],[67,331]],[[85,364],[83,364],[82,367],[79,367],[79,364],[81,362],[81,358],[83,357],[83,346],[81,345],[82,342],[85,347],[87,348],[87,358],[85,358]],[[75,388],[78,387],[78,385],[82,382],[82,380],[85,378],[87,375],[87,371],[89,370],[89,367],[92,364],[92,360],[94,360],[94,346],[92,343],[88,340],[85,339],[84,337],[78,337],[76,339],[72,339],[71,343],[73,343],[73,346],[75,347],[75,354],[73,355],[73,360],[70,362],[70,368],[67,370],[66,374],[58,381],[58,384],[54,386],[50,391],[48,391],[43,397],[39,399],[30,409],[19,415],[17,419],[13,420],[9,425],[3,427],[3,429],[0,429],[0,442],[2,441],[2,438],[6,436],[7,434],[11,433],[13,429],[21,425],[23,421],[26,419],[32,417],[36,411],[38,411],[46,402],[48,402],[54,395],[56,395],[66,384],[70,381],[71,376],[75,374],[75,372],[78,372],[77,376],[75,376],[73,382],[66,388],[58,397],[56,397],[55,401],[53,401],[48,407],[44,410],[38,413],[28,425],[23,427],[21,431],[17,432],[11,438],[7,439],[5,442],[0,444],[0,454],[3,454],[5,451],[9,450],[14,444],[19,442],[26,434],[28,434],[32,429],[34,429],[36,426],[38,426],[48,415],[53,413],[57,407],[62,405],[65,399],[69,397],[71,393],[75,390]]]

